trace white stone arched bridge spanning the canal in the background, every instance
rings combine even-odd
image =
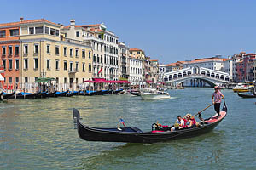
[[[223,71],[214,71],[199,66],[192,66],[178,71],[166,72],[164,81],[171,84],[180,84],[190,80],[191,86],[204,86],[207,82],[211,87],[230,82],[230,75]]]

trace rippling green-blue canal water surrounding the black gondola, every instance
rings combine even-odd
[[[170,90],[172,99],[130,94],[11,100],[0,103],[0,169],[255,169],[256,99],[224,89],[228,115],[211,133],[189,139],[125,144],[89,142],[73,129],[72,108],[94,127],[143,131],[177,115],[195,114],[212,102],[212,88]],[[203,112],[207,118],[213,107]]]

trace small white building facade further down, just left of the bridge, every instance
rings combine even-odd
[[[131,85],[142,84],[143,82],[143,59],[129,57]]]

